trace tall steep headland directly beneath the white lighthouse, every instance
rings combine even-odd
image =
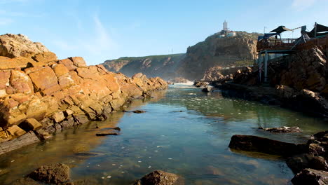
[[[254,63],[257,58],[257,33],[237,32],[236,36],[207,37],[187,49],[177,74],[184,78],[200,79],[211,67],[231,67]]]

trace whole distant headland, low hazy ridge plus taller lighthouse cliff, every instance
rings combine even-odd
[[[162,78],[182,77],[200,79],[211,67],[231,67],[253,64],[257,58],[257,33],[236,32],[236,36],[207,37],[187,49],[186,54],[155,55],[149,57],[122,57],[103,63],[109,71],[125,75],[142,72]]]

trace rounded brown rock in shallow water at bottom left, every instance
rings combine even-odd
[[[62,184],[69,181],[69,167],[62,163],[56,165],[44,165],[27,175],[36,181],[42,181],[48,184]]]

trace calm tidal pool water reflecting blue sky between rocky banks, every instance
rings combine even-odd
[[[219,92],[206,94],[182,84],[154,93],[151,100],[135,100],[128,109],[146,113],[116,113],[108,121],[65,130],[46,142],[1,156],[0,184],[11,184],[50,163],[66,163],[73,179],[88,179],[89,184],[130,184],[153,170],[181,174],[186,184],[288,184],[293,174],[283,159],[231,151],[231,136],[305,142],[309,135],[328,129],[320,118],[224,98]],[[297,125],[303,132],[273,134],[257,129],[284,125]],[[122,129],[121,135],[95,136],[115,126]]]

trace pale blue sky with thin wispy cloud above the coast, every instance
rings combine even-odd
[[[185,53],[228,27],[264,32],[328,25],[328,0],[0,0],[0,34],[25,34],[60,58],[88,64],[125,56]],[[286,36],[297,36],[289,32]]]

